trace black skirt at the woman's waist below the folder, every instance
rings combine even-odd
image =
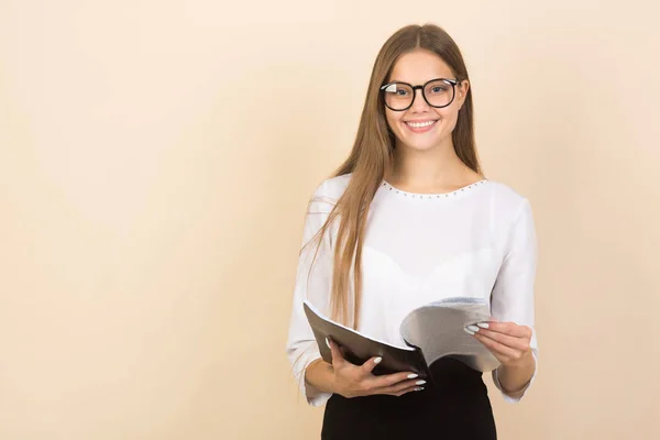
[[[433,385],[400,397],[332,395],[321,440],[495,440],[493,409],[482,373],[443,359],[431,366]]]

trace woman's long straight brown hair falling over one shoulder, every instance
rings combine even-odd
[[[402,28],[385,42],[376,57],[353,148],[332,175],[337,177],[352,173],[351,179],[316,237],[322,237],[332,221],[337,217],[340,218],[334,240],[331,317],[352,328],[358,328],[360,315],[362,245],[367,212],[385,177],[385,170],[394,160],[395,136],[385,119],[380,88],[387,81],[397,59],[416,48],[424,48],[440,56],[459,81],[470,79],[458,45],[443,29],[433,24]],[[452,141],[459,158],[475,173],[481,173],[473,124],[470,87],[452,132]],[[350,292],[351,267],[354,278],[353,295]]]

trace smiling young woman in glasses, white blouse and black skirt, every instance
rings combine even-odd
[[[536,374],[536,232],[529,201],[486,179],[474,145],[461,52],[435,25],[403,28],[376,58],[350,156],[310,199],[287,355],[322,439],[495,439],[482,373],[455,360],[374,375],[330,341],[321,360],[302,301],[373,338],[404,345],[410,310],[450,296],[487,298],[492,319],[466,332],[501,362],[496,387],[518,402]]]

